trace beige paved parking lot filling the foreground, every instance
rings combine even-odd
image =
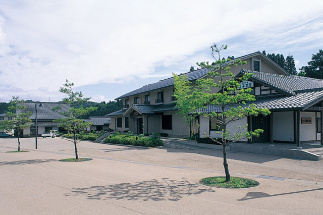
[[[78,143],[60,138],[0,139],[0,214],[322,214],[323,162],[229,152],[232,176],[247,189],[200,185],[224,176],[222,151]]]

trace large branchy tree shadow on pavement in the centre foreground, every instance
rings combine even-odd
[[[85,195],[87,199],[126,199],[126,200],[153,200],[178,201],[184,196],[199,195],[203,192],[215,192],[212,188],[201,184],[191,184],[185,178],[182,181],[164,178],[162,180],[148,180],[142,182],[110,184],[106,186],[91,186],[73,188],[71,195]]]

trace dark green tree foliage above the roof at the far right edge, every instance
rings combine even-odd
[[[301,67],[301,75],[310,77],[310,78],[319,78],[323,79],[323,50],[319,51],[312,55],[312,60],[307,63],[308,66]]]

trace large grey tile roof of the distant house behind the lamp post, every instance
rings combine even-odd
[[[42,106],[39,106],[41,103]],[[56,102],[40,102],[37,104],[37,119],[38,120],[57,120],[64,118],[63,115],[59,114],[56,111],[52,111],[51,109],[56,106],[61,106],[62,110],[59,112],[68,112],[71,109],[71,106],[67,103],[56,103]],[[23,105],[27,107],[27,109],[22,110],[22,112],[31,112],[31,119],[35,120],[35,102],[23,102]]]

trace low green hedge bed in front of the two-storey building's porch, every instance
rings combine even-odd
[[[155,147],[162,146],[163,140],[152,138],[152,137],[142,137],[142,136],[133,136],[129,134],[113,134],[104,139],[106,143],[116,143],[124,145],[136,145],[136,146],[146,146],[146,147]]]

